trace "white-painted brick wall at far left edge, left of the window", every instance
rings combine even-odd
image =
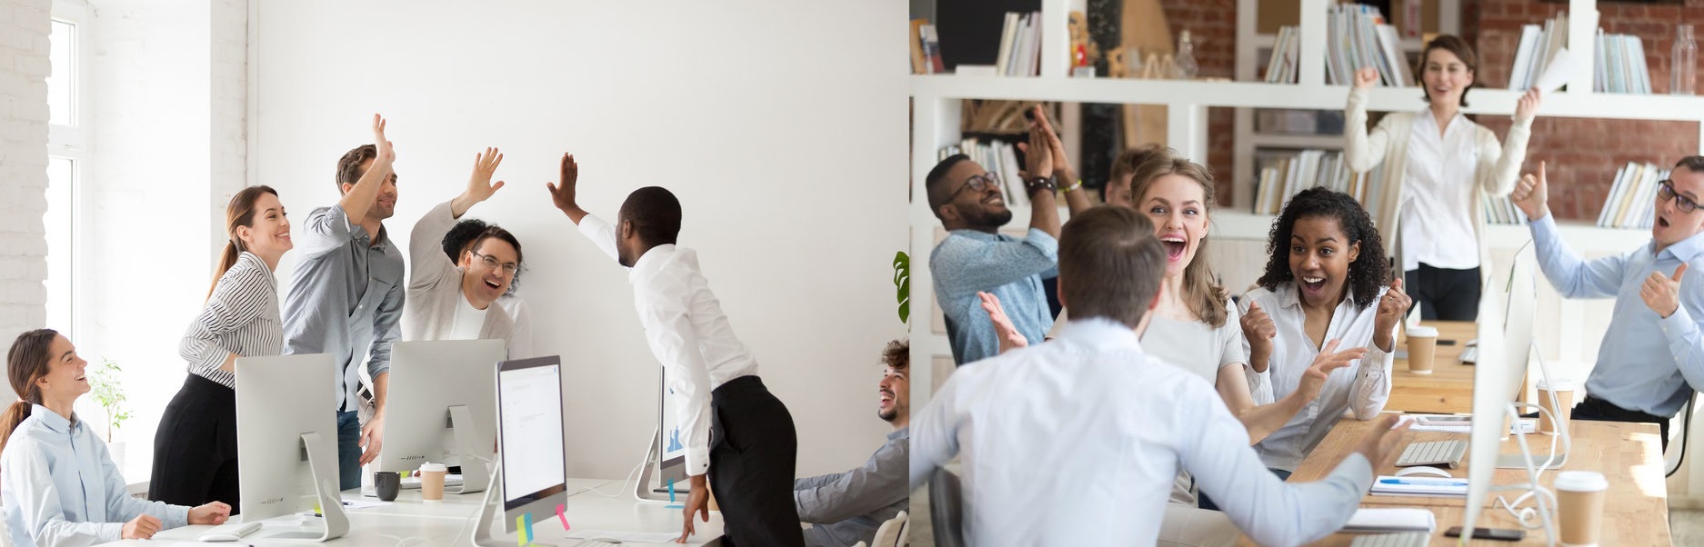
[[[0,0],[0,343],[48,320],[51,0]],[[10,394],[10,389],[0,389]],[[10,397],[7,397],[10,399]]]

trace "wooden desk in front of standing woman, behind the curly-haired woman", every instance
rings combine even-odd
[[[1408,360],[1390,366],[1390,399],[1387,411],[1402,412],[1471,412],[1474,407],[1474,366],[1462,365],[1467,341],[1479,337],[1479,325],[1471,320],[1426,320],[1438,327],[1438,351],[1431,360],[1430,375],[1408,371]],[[1397,349],[1408,349],[1406,332],[1396,339]]]

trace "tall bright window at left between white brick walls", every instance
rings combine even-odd
[[[46,327],[75,339],[77,331],[77,252],[80,222],[78,187],[83,182],[87,153],[87,89],[83,82],[83,22],[89,7],[60,0],[53,5],[48,34],[48,213],[43,227],[48,237],[48,322]]]

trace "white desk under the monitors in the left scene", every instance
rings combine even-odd
[[[665,508],[661,503],[641,503],[632,499],[632,487],[617,487],[620,481],[607,479],[567,479],[567,501],[564,515],[573,527],[573,533],[584,532],[639,532],[671,533],[670,542],[644,544],[625,542],[624,545],[680,545],[673,537],[680,535],[682,510]],[[605,492],[619,492],[617,498],[605,498],[590,489],[602,487]],[[344,491],[344,499],[377,501],[365,498],[358,491]],[[377,508],[344,511],[349,516],[349,533],[329,542],[325,547],[462,547],[469,545],[467,532],[474,511],[484,501],[484,492],[445,494],[443,501],[421,501],[417,489],[397,494],[397,499]],[[682,498],[685,501],[685,498]],[[310,518],[312,520],[312,518]],[[515,545],[515,533],[504,532],[503,513],[494,518],[491,540],[496,545]],[[211,527],[182,527],[164,530],[153,535],[152,542],[119,540],[101,547],[170,547],[162,542],[196,542],[203,530]],[[717,545],[722,535],[722,515],[712,511],[711,521],[695,521],[697,533],[687,545]],[[303,540],[269,538],[278,530],[261,530],[235,544],[196,544],[208,547],[303,547],[312,545]],[[556,515],[533,515],[533,540],[559,547],[571,547],[579,538],[569,538]]]

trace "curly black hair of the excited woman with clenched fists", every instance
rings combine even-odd
[[[1361,244],[1361,252],[1350,262],[1350,290],[1355,291],[1355,305],[1368,307],[1379,300],[1379,290],[1390,283],[1390,261],[1384,254],[1384,240],[1372,216],[1350,194],[1326,187],[1309,187],[1285,203],[1283,213],[1273,220],[1273,230],[1266,235],[1266,273],[1258,281],[1266,290],[1276,290],[1278,283],[1295,281],[1290,271],[1290,233],[1295,222],[1310,216],[1329,216],[1338,220],[1338,227],[1350,237],[1350,244]]]

